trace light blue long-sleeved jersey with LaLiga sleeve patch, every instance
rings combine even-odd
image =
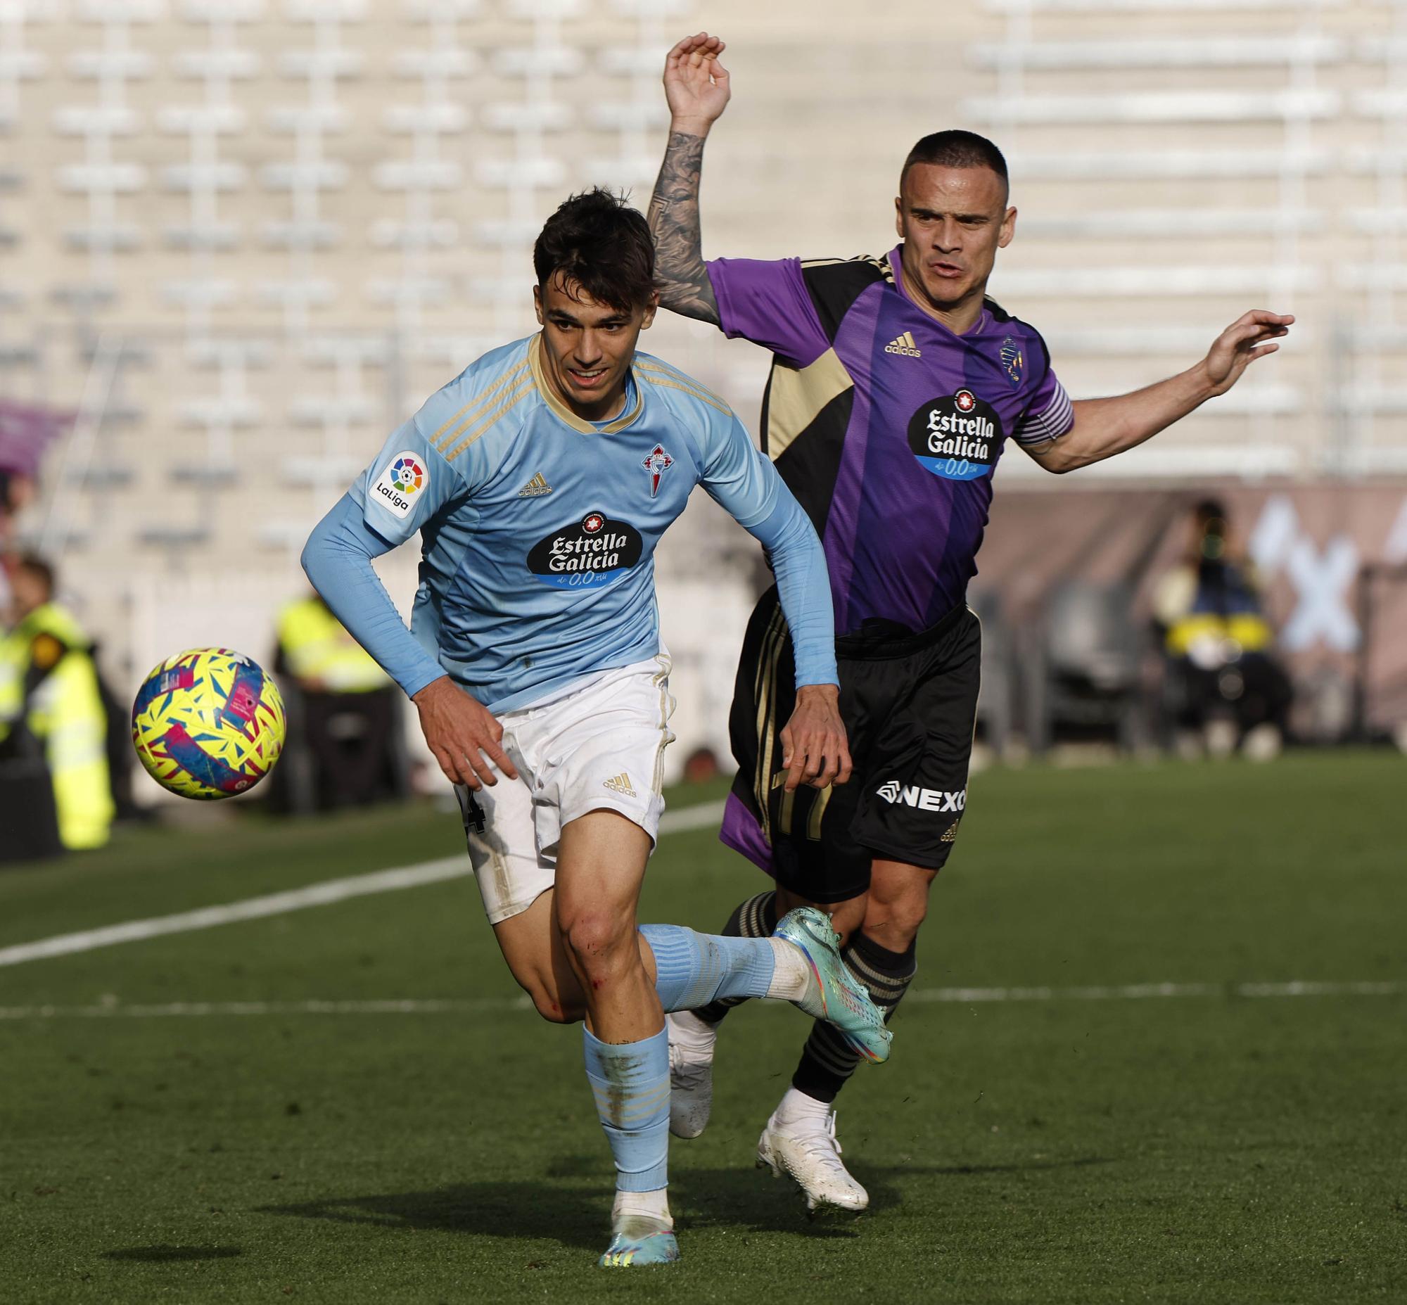
[[[660,651],[654,548],[695,485],[768,548],[798,683],[834,683],[810,522],[732,409],[643,353],[608,422],[556,397],[540,336],[485,353],[386,442],[314,530],[304,567],[407,693],[447,672],[504,712]],[[407,631],[370,558],[416,533]]]

